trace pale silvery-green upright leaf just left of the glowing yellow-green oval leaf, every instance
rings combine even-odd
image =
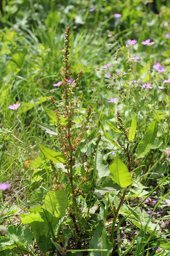
[[[103,159],[103,156],[99,150],[97,153],[96,169],[98,170],[99,178],[109,176],[109,165],[106,160]]]

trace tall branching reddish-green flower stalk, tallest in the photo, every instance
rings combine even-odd
[[[90,115],[91,115],[91,107],[88,108],[88,112],[86,115],[86,120],[84,121],[83,126],[80,127],[80,132],[78,135],[74,132],[74,124],[73,122],[75,112],[77,112],[78,104],[81,103],[81,98],[78,96],[78,98],[75,100],[75,91],[78,90],[78,85],[80,83],[80,78],[82,75],[82,70],[80,70],[76,80],[73,80],[72,73],[70,73],[70,63],[68,61],[70,56],[70,46],[69,46],[69,27],[66,29],[65,32],[65,38],[64,38],[64,45],[65,48],[63,50],[63,66],[61,70],[61,76],[62,81],[58,82],[57,86],[63,86],[62,90],[62,98],[63,98],[63,104],[61,104],[61,107],[58,107],[55,103],[54,96],[51,97],[51,102],[54,106],[55,113],[56,113],[56,120],[57,125],[56,129],[58,132],[58,143],[60,146],[60,152],[64,154],[64,156],[67,159],[67,163],[64,164],[64,168],[67,170],[66,176],[68,176],[70,180],[70,188],[71,188],[71,196],[72,196],[72,208],[68,208],[70,212],[70,217],[72,218],[74,222],[74,226],[76,228],[76,231],[79,232],[81,228],[78,228],[78,225],[76,223],[76,220],[78,222],[80,218],[79,214],[79,207],[77,205],[77,196],[78,193],[80,193],[79,188],[76,188],[76,186],[73,183],[74,179],[74,166],[75,166],[75,151],[78,148],[78,145],[82,141],[84,132],[87,131],[88,123],[90,122]],[[53,164],[51,164],[53,172],[55,172],[55,168]],[[57,175],[54,175],[54,185],[56,189],[59,189],[60,183],[57,180]]]

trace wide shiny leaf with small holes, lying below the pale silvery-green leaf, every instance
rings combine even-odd
[[[94,193],[98,197],[104,197],[107,192],[121,189],[117,184],[113,184],[111,178],[105,176],[100,179],[90,180],[83,186],[84,193]]]

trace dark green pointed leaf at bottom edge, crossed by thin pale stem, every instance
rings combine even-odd
[[[107,239],[106,228],[103,223],[99,223],[94,235],[89,243],[90,249],[99,249],[98,251],[90,251],[90,256],[109,256],[113,250],[111,242]],[[107,251],[102,251],[107,249]]]

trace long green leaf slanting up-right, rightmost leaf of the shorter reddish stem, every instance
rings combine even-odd
[[[148,126],[147,131],[145,132],[142,140],[139,142],[137,146],[136,154],[137,159],[144,157],[154,145],[154,141],[156,138],[156,134],[158,132],[158,121],[155,119]]]

